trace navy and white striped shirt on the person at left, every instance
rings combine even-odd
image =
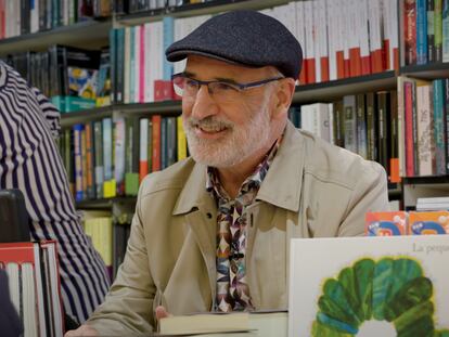
[[[54,141],[59,131],[57,109],[0,61],[0,189],[24,193],[34,241],[57,242],[64,310],[82,323],[110,280],[79,224]]]

